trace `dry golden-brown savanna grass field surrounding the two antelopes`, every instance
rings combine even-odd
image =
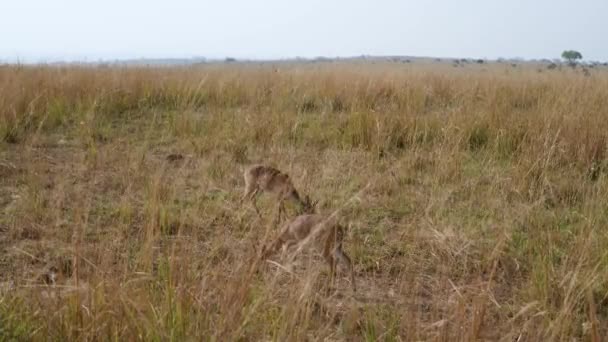
[[[607,147],[607,67],[0,66],[0,340],[605,341]]]

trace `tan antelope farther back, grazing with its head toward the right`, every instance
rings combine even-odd
[[[260,192],[271,192],[277,195],[278,213],[277,221],[280,222],[281,214],[285,213],[285,200],[292,200],[300,205],[301,213],[310,213],[314,210],[314,204],[310,202],[310,198],[306,196],[304,199],[296,191],[293,183],[289,179],[289,175],[265,165],[254,165],[243,173],[245,178],[245,193],[241,199],[241,203],[248,199],[253,204],[253,208],[261,218],[260,210],[255,204],[257,195]]]

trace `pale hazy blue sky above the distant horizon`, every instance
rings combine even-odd
[[[0,59],[413,55],[608,61],[608,0],[0,0]]]

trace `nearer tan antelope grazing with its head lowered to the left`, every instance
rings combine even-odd
[[[293,221],[285,225],[279,237],[270,247],[263,247],[262,259],[267,259],[281,248],[285,250],[295,245],[303,244],[306,239],[310,238],[312,239],[311,243],[321,250],[323,258],[329,264],[330,284],[334,281],[337,259],[348,268],[353,292],[356,292],[357,287],[355,285],[353,264],[342,249],[345,229],[337,223],[325,223],[327,220],[329,220],[327,216],[318,214],[297,216]]]

